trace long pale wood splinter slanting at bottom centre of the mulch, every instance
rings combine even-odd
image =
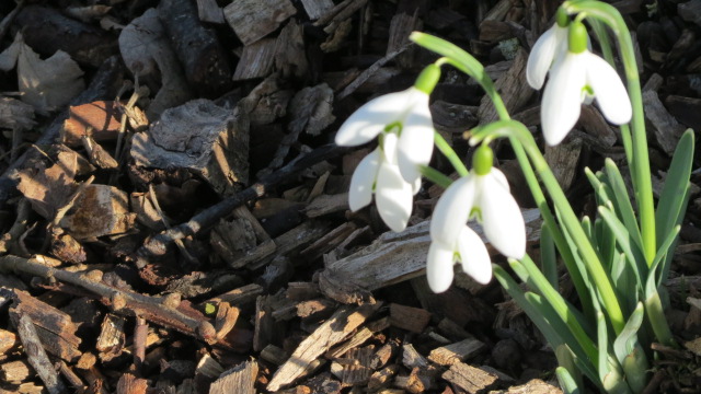
[[[307,371],[319,356],[350,335],[380,306],[381,303],[376,303],[338,309],[324,324],[299,344],[289,360],[275,372],[267,390],[277,391],[281,386],[292,383]]]

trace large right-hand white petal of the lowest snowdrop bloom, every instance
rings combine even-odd
[[[479,205],[482,227],[492,245],[503,255],[521,258],[526,254],[526,224],[514,196],[491,174],[482,177]]]

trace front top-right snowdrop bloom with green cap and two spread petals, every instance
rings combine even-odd
[[[620,77],[606,60],[587,49],[586,27],[573,22],[568,32],[568,50],[555,59],[543,93],[540,118],[550,146],[560,143],[579,118],[587,97],[596,99],[604,116],[612,124],[631,120],[632,106]]]

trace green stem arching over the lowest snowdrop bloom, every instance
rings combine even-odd
[[[545,185],[555,208],[560,212],[562,223],[572,235],[582,259],[585,262],[587,270],[591,275],[591,279],[601,296],[601,301],[604,302],[608,316],[611,321],[613,331],[616,334],[619,334],[625,326],[625,320],[623,318],[623,312],[618,302],[618,298],[616,297],[616,292],[613,291],[611,280],[604,269],[604,266],[599,260],[599,256],[594,250],[594,246],[591,246],[587,234],[584,232],[584,229],[582,229],[577,216],[572,210],[572,206],[570,206],[562,188],[560,188],[558,179],[550,170],[548,162],[545,162],[545,158],[543,158],[542,153],[538,149],[538,146],[533,140],[533,136],[521,123],[513,120],[499,120],[484,126],[474,134],[473,139],[479,141],[487,136],[514,137],[521,142],[536,172],[542,179],[543,185]]]

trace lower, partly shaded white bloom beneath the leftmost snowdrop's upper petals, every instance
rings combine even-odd
[[[397,165],[397,135],[384,136],[380,147],[358,163],[350,178],[348,205],[357,211],[372,201],[382,221],[392,231],[406,228],[414,204],[413,196],[421,187],[421,179],[410,184],[404,181]]]

